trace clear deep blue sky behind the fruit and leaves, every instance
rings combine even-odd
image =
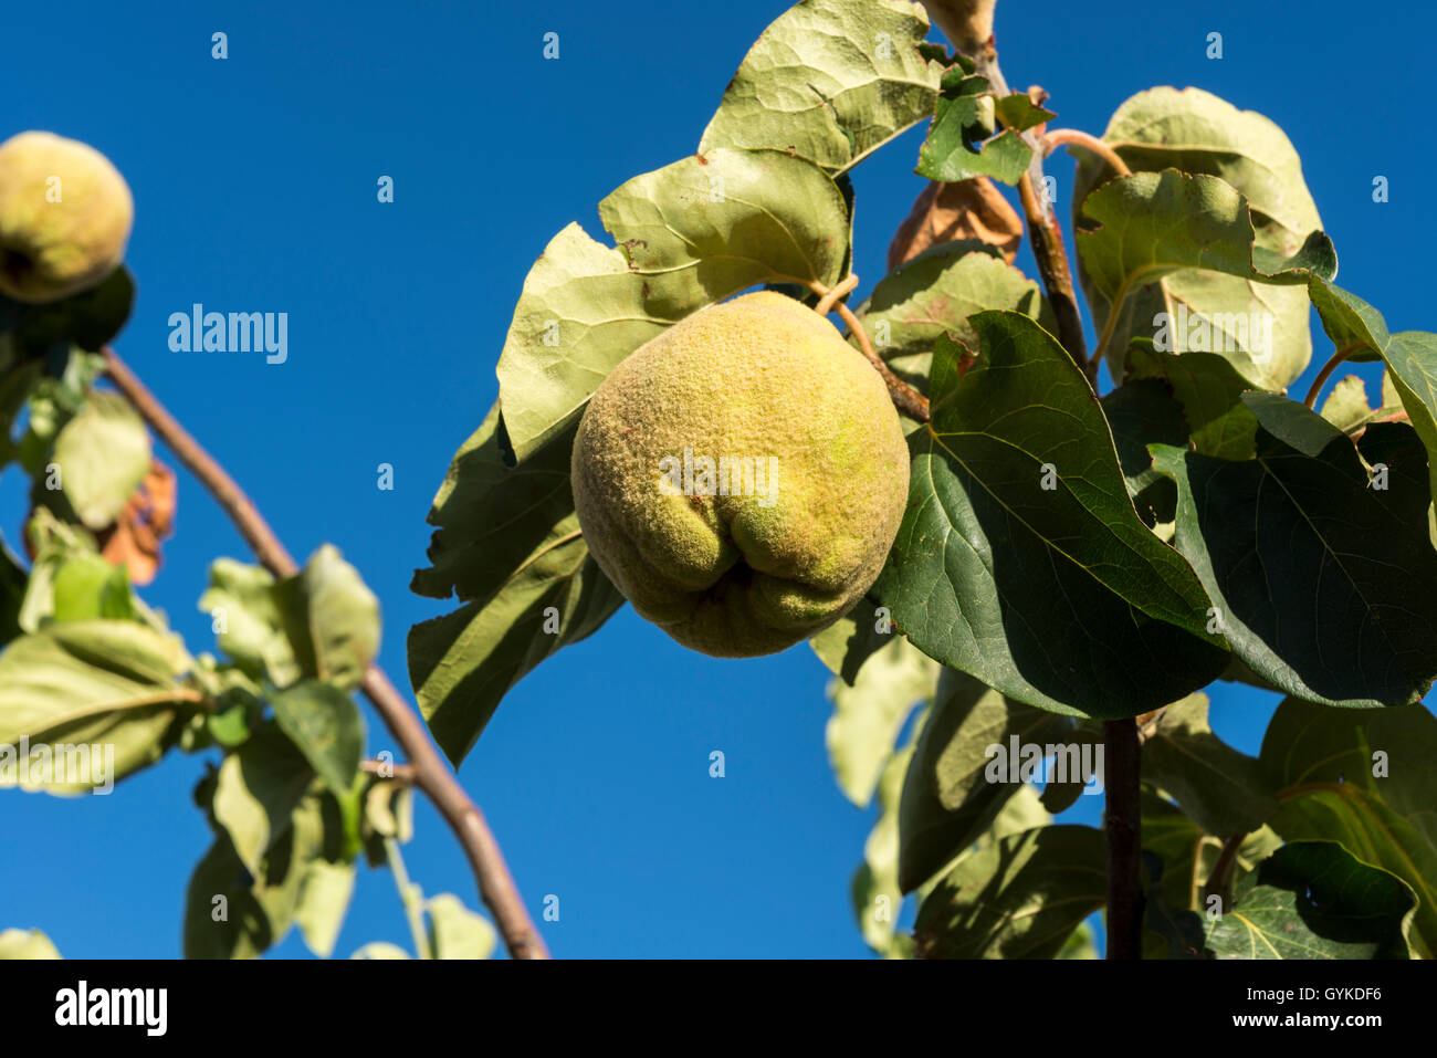
[[[605,4],[73,3],[0,14],[0,138],[42,128],[88,141],[135,193],[139,283],[119,352],[305,556],[333,542],[384,604],[381,661],[407,686],[411,624],[444,611],[408,591],[424,515],[454,448],[494,400],[494,362],[525,273],[572,220],[698,142],[747,45],[786,7]],[[1394,331],[1437,329],[1426,282],[1437,17],[1426,4],[1220,0],[1201,6],[1003,0],[1015,86],[1052,92],[1056,124],[1101,134],[1152,85],[1197,85],[1280,124],[1341,257],[1338,282]],[[1004,10],[1006,9],[1006,10]],[[1027,32],[1025,27],[1032,27]],[[230,58],[210,58],[228,33]],[[560,58],[542,37],[560,34]],[[1204,58],[1210,32],[1224,58]],[[921,181],[921,134],[865,161],[862,290]],[[1072,164],[1055,158],[1061,211]],[[1391,201],[1374,204],[1377,174]],[[395,203],[375,201],[379,175]],[[1026,262],[1026,263],[1025,263]],[[1020,259],[1029,272],[1030,259]],[[203,302],[289,313],[289,362],[174,354],[167,318]],[[1318,362],[1326,342],[1318,339]],[[1295,387],[1300,395],[1312,371]],[[1375,395],[1375,384],[1369,385]],[[174,464],[172,460],[167,460]],[[375,487],[392,463],[395,489]],[[23,486],[0,476],[17,539]],[[193,650],[207,565],[249,558],[181,474],[178,535],[145,591]],[[871,825],[823,750],[826,670],[806,645],[756,661],[688,653],[622,611],[503,703],[461,779],[487,812],[532,911],[560,898],[558,956],[862,956],[848,883]],[[1272,696],[1219,689],[1214,722],[1256,752]],[[371,750],[388,745],[371,716]],[[727,778],[710,779],[724,750]],[[195,758],[85,801],[0,795],[0,929],[40,927],[70,956],[171,957],[208,831]],[[1082,798],[1079,821],[1096,821]],[[474,906],[473,880],[421,805],[407,848],[428,893]],[[387,871],[361,871],[336,953],[408,943]],[[300,956],[296,934],[276,949]]]

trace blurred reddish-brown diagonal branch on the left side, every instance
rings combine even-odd
[[[114,349],[106,346],[101,354],[105,358],[105,371],[109,378],[135,411],[170,446],[175,457],[218,500],[260,564],[276,576],[293,576],[299,571],[295,559],[234,479],[180,426]],[[499,842],[494,841],[479,806],[474,805],[454,772],[440,758],[418,713],[410,707],[376,664],[369,666],[361,689],[410,758],[414,768],[414,783],[440,809],[464,847],[479,881],[480,898],[494,916],[494,924],[504,939],[509,954],[514,959],[547,959],[549,950],[525,908],[519,888],[514,886],[503,852],[499,850]]]

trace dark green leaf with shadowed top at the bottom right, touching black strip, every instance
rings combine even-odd
[[[1237,886],[1207,932],[1219,959],[1407,959],[1417,900],[1332,841],[1289,842]]]

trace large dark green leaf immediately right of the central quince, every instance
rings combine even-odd
[[[1134,510],[1082,371],[1026,316],[970,322],[981,355],[957,378],[940,345],[933,421],[910,438],[908,510],[878,579],[898,628],[1053,712],[1137,716],[1204,686],[1227,661],[1207,595]]]

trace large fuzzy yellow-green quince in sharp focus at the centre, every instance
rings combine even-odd
[[[599,568],[641,617],[716,657],[772,654],[842,617],[908,499],[878,372],[772,292],[703,309],[619,364],[572,470]]]

